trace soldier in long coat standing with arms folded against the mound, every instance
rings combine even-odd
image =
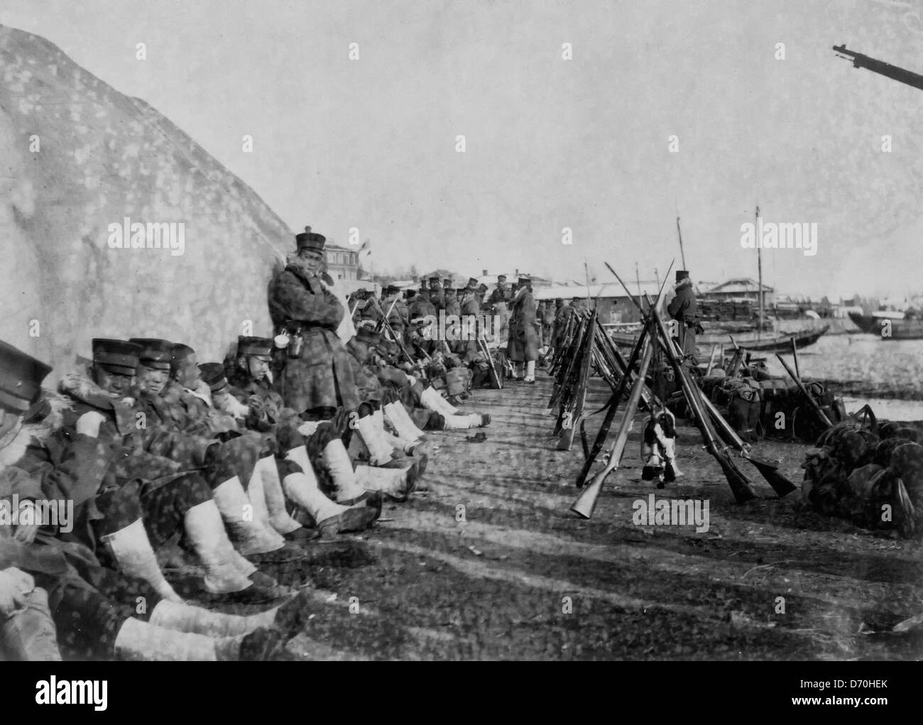
[[[294,411],[316,418],[333,417],[339,407],[354,410],[361,402],[349,353],[337,336],[346,312],[318,277],[326,242],[327,237],[306,227],[295,236],[297,251],[270,283],[270,317],[293,335],[282,399]]]

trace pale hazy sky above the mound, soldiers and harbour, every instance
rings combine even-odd
[[[923,73],[923,0],[2,0],[0,23],[149,102],[293,229],[358,227],[377,270],[653,277],[678,211],[693,278],[755,278],[759,200],[819,225],[814,257],[764,252],[780,291],[923,288],[923,91],[831,50]]]

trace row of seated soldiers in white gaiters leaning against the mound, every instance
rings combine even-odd
[[[0,342],[0,654],[60,659],[63,642],[102,659],[278,656],[307,593],[267,565],[406,501],[424,430],[489,424],[390,365],[378,332],[346,349],[361,404],[318,418],[283,405],[268,338],[201,364],[187,344],[94,339],[56,392],[42,389],[49,366]],[[39,515],[54,501],[73,505],[69,521]],[[155,553],[177,540],[202,573],[182,596]],[[190,596],[282,603],[238,616]]]

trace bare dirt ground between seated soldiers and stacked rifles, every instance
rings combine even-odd
[[[593,381],[588,406],[606,399]],[[472,431],[429,434],[428,490],[388,504],[367,535],[312,544],[268,568],[313,581],[294,659],[918,659],[920,635],[882,634],[923,611],[916,541],[872,534],[785,500],[737,504],[696,429],[678,430],[686,474],[641,481],[638,432],[590,521],[569,512],[583,456],[555,450],[551,381],[476,391]],[[593,441],[602,415],[590,419]],[[620,416],[619,416],[620,417]],[[613,430],[612,435],[614,436]],[[611,440],[611,439],[610,439]],[[763,443],[800,484],[808,446]],[[708,531],[635,526],[632,503],[709,501]],[[248,608],[257,610],[258,608]],[[241,610],[240,608],[237,609]],[[246,609],[245,609],[246,610]]]

